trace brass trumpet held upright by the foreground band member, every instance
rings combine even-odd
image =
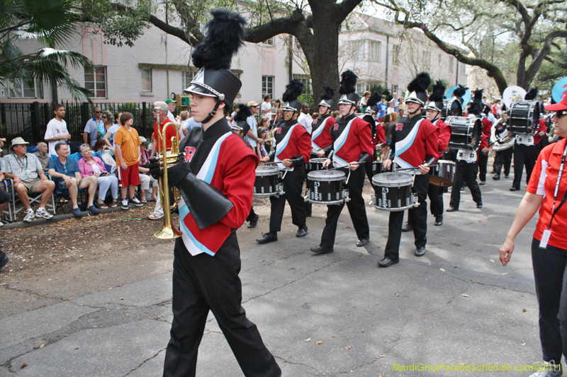
[[[175,128],[175,136],[172,137],[172,153],[167,154],[166,149],[166,130],[167,127],[174,127]],[[158,180],[159,185],[159,195],[161,195],[162,200],[162,207],[164,209],[164,225],[162,229],[154,234],[155,238],[159,238],[160,240],[171,240],[174,238],[178,238],[181,236],[181,231],[177,229],[172,221],[172,211],[177,207],[177,202],[181,199],[181,194],[177,187],[174,187],[172,190],[174,196],[174,204],[169,204],[169,185],[167,183],[167,167],[175,165],[179,158],[179,136],[177,132],[177,127],[174,122],[168,122],[164,125],[161,134],[158,134],[158,140],[162,141],[162,155],[160,156],[160,164],[162,165],[164,174]]]

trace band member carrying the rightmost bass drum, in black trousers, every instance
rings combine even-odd
[[[524,100],[534,100],[537,98],[537,89],[532,89],[524,96]],[[539,141],[541,137],[545,136],[547,127],[545,122],[539,122],[536,134],[517,134],[515,135],[516,141],[514,144],[514,181],[510,191],[520,190],[520,182],[522,182],[522,172],[524,165],[526,166],[526,184],[529,182],[529,177],[532,176],[532,170],[539,154]]]

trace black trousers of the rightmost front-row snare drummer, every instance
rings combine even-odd
[[[417,174],[413,181],[412,192],[417,194],[417,207],[408,210],[408,221],[413,230],[416,248],[425,248],[427,244],[427,190],[430,185],[429,174]],[[394,262],[400,259],[400,240],[402,238],[402,224],[404,211],[390,212],[388,221],[388,242],[384,257]]]

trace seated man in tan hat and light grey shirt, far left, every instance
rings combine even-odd
[[[29,223],[35,216],[43,217],[43,219],[51,219],[52,214],[45,210],[45,204],[55,190],[55,183],[49,180],[41,168],[41,162],[38,156],[32,153],[26,153],[26,141],[21,137],[12,140],[10,149],[13,154],[9,154],[2,158],[2,171],[6,178],[13,179],[14,189],[18,192],[18,198],[26,208],[26,216],[23,221]],[[30,207],[30,198],[28,192],[41,192],[40,207],[33,212]]]

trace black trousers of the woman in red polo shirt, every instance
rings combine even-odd
[[[544,361],[567,359],[567,250],[532,240],[532,265],[539,304],[539,340]]]

